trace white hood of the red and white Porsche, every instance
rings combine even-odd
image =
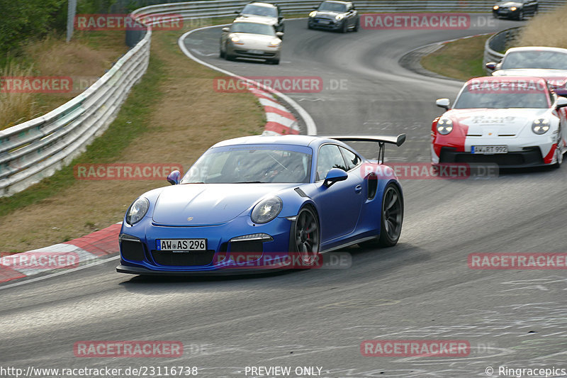
[[[443,117],[468,126],[467,135],[513,136],[548,113],[549,109],[451,109]]]

